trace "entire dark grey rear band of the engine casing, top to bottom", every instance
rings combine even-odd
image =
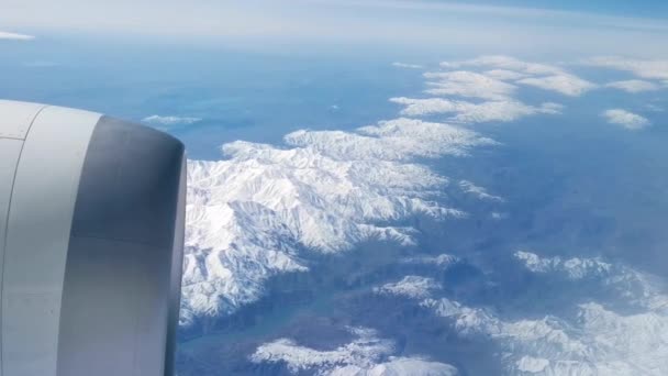
[[[176,139],[105,117],[98,123],[73,220],[58,375],[170,369],[183,174],[183,145]]]

